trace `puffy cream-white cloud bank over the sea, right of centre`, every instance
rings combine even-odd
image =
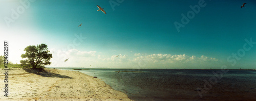
[[[170,54],[151,54],[129,59],[136,68],[207,68],[217,66],[216,58]],[[214,68],[214,67],[213,67]]]

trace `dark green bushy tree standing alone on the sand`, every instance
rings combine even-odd
[[[48,50],[46,44],[42,43],[40,45],[29,45],[25,49],[25,54],[22,54],[22,58],[26,60],[20,60],[22,66],[32,66],[33,68],[41,67],[41,65],[50,65],[50,59],[52,54]]]

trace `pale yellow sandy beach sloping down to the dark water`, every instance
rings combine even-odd
[[[0,82],[0,100],[131,100],[98,78],[79,71],[49,69],[11,69],[8,74],[8,96],[4,80]],[[1,69],[0,77],[5,78]]]

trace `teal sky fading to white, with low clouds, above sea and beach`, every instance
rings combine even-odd
[[[19,63],[46,43],[47,67],[256,69],[255,10],[254,0],[1,0],[0,46]]]

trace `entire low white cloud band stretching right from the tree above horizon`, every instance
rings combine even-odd
[[[110,67],[110,68],[205,68],[219,61],[216,58],[170,54],[128,55],[99,54],[96,51],[82,52],[77,49],[54,52],[55,67]],[[118,56],[118,57],[117,57]],[[69,58],[67,62],[64,59]],[[75,63],[75,64],[74,64]],[[92,65],[92,66],[90,66]],[[54,66],[54,65],[51,65]]]

